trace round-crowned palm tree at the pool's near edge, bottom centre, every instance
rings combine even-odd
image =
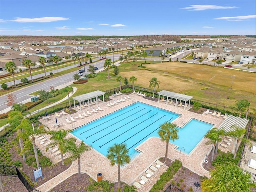
[[[110,165],[117,164],[118,169],[118,188],[121,188],[120,166],[124,166],[130,162],[129,150],[125,143],[114,144],[108,148],[107,158],[110,160]]]

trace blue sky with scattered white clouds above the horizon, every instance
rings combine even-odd
[[[255,0],[1,0],[0,35],[255,35]]]

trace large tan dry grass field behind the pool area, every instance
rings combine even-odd
[[[256,74],[181,62],[146,64],[152,71],[137,65],[120,65],[120,74],[137,77],[137,86],[148,87],[149,80],[156,77],[160,81],[158,90],[168,90],[193,96],[195,99],[224,106],[234,105],[236,100],[247,99],[256,108]],[[232,86],[232,89],[230,89]]]

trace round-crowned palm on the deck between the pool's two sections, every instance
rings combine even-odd
[[[161,140],[166,142],[165,161],[167,161],[169,141],[171,139],[174,142],[174,140],[179,139],[178,132],[177,125],[171,122],[162,124],[157,132]]]

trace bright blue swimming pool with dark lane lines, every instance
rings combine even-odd
[[[140,153],[135,150],[138,145],[152,136],[158,137],[157,131],[160,125],[165,122],[172,122],[179,116],[179,114],[167,110],[136,102],[85,124],[71,133],[86,144],[91,144],[94,149],[104,156],[108,154],[108,148],[114,143],[126,143],[130,157],[134,158]],[[201,129],[195,130],[192,128],[193,130],[191,130],[191,126],[194,126],[194,124],[188,123],[180,129],[179,140],[174,142],[174,144],[179,145],[181,148],[183,147],[182,152],[186,154],[189,154],[194,148],[191,149],[190,146],[196,146],[205,134],[205,131]],[[204,130],[204,128],[202,129]],[[210,128],[206,132],[208,130]],[[191,138],[192,132],[195,131],[199,132]],[[177,150],[180,149],[178,148]]]

